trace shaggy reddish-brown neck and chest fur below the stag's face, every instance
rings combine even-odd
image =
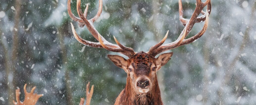
[[[126,87],[116,98],[115,105],[163,105],[156,76],[152,85],[150,91],[140,93],[134,89],[132,79],[128,75]]]

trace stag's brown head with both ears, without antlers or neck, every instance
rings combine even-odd
[[[133,88],[140,93],[146,93],[154,86],[156,72],[165,65],[173,53],[164,53],[155,58],[145,52],[136,53],[128,60],[119,55],[108,55],[118,67],[123,68],[128,78],[131,78]]]

